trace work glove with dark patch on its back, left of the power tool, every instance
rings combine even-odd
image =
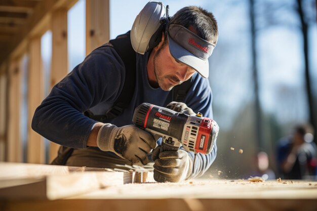
[[[153,136],[135,125],[117,127],[113,124],[101,126],[97,136],[97,146],[103,151],[111,151],[116,155],[137,163],[147,164],[147,154],[157,144]]]

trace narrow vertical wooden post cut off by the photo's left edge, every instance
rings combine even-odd
[[[6,144],[7,142],[7,65],[0,67],[0,161],[6,161]]]

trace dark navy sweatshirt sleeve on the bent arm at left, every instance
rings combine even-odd
[[[102,101],[114,102],[124,77],[123,61],[113,48],[95,50],[36,108],[32,129],[57,144],[86,148],[96,121],[83,112]]]

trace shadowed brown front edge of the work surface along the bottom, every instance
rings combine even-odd
[[[289,199],[193,199],[190,204],[185,199],[61,199],[61,200],[13,200],[3,201],[6,210],[32,211],[219,211],[219,210],[267,210],[267,211],[315,211],[317,201]]]

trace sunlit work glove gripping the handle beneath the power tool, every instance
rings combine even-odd
[[[180,182],[189,179],[192,159],[185,150],[162,151],[162,146],[152,152],[154,179],[156,182]]]

